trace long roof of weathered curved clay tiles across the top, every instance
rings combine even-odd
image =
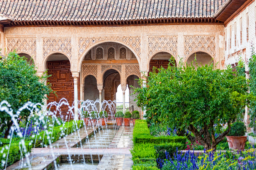
[[[210,18],[227,0],[0,0],[12,21],[128,21]]]

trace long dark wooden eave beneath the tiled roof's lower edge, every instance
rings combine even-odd
[[[131,20],[131,21],[11,21],[5,27],[46,27],[46,26],[141,26],[141,25],[172,25],[172,24],[221,24],[215,18],[160,18],[150,20]]]

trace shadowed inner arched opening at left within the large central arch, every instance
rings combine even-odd
[[[99,99],[99,90],[97,88],[97,79],[93,75],[88,75],[84,79],[84,101]]]

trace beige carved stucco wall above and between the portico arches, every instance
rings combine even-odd
[[[186,58],[185,51],[188,49],[193,53],[193,50],[187,48],[185,40],[191,36],[212,37],[208,50],[211,55],[215,55],[216,62],[219,54],[223,53],[221,44],[224,42],[223,35],[224,25],[170,25],[170,26],[128,26],[128,27],[38,27],[38,28],[5,28],[4,29],[4,48],[7,52],[18,49],[20,41],[29,42],[28,46],[23,47],[27,53],[33,53],[36,59],[36,65],[39,71],[43,71],[43,59],[51,53],[52,50],[65,53],[71,60],[71,70],[80,71],[84,55],[92,47],[101,42],[119,42],[127,46],[134,52],[138,59],[141,71],[148,70],[151,54],[158,51],[169,51],[172,55],[179,55]],[[149,44],[153,37],[160,38],[152,44]],[[215,37],[215,39],[213,38]],[[14,41],[13,41],[14,40]],[[47,41],[47,40],[50,40]],[[177,43],[168,44],[165,41]],[[51,43],[55,41],[55,43]],[[63,43],[65,42],[65,43]],[[158,43],[158,47],[154,44]],[[215,48],[212,46],[215,43]],[[32,45],[36,44],[36,45]],[[192,44],[192,43],[191,43]],[[201,49],[199,43],[196,46]],[[21,47],[19,47],[21,48]],[[177,53],[174,52],[177,49]],[[151,50],[151,51],[150,51]],[[214,50],[214,52],[213,52]],[[19,52],[19,51],[18,51]],[[185,60],[185,59],[184,59]]]

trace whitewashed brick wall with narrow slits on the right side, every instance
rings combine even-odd
[[[233,64],[242,59],[245,62],[245,70],[248,71],[248,62],[251,55],[251,45],[253,44],[254,47],[256,46],[255,9],[256,1],[246,7],[225,27],[225,68],[227,65]],[[237,36],[235,37],[235,35]],[[244,122],[247,125],[250,123],[247,109]]]

